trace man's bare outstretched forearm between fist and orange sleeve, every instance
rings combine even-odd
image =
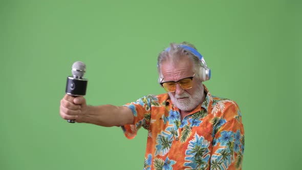
[[[92,123],[100,126],[121,126],[133,123],[133,114],[127,107],[115,105],[87,106],[87,112],[78,117],[77,122]]]

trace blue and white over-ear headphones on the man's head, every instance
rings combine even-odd
[[[197,56],[200,60],[200,70],[199,75],[201,76],[201,81],[206,81],[211,78],[211,69],[207,67],[206,61],[204,60],[203,56],[194,48],[185,46],[185,45],[179,45],[179,47],[183,48],[184,50],[191,52],[193,55]],[[169,51],[170,47],[168,47],[165,51]],[[158,82],[160,83],[162,81],[162,78],[158,78]]]

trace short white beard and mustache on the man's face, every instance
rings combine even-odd
[[[184,91],[182,95],[175,94],[174,96],[172,96],[169,93],[169,96],[171,98],[172,103],[174,103],[176,107],[181,111],[186,111],[186,112],[192,111],[202,102],[202,99],[204,97],[204,87],[202,84],[200,84],[192,95]],[[188,97],[188,98],[182,100],[178,99],[182,97]]]

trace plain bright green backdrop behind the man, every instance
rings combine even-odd
[[[122,105],[164,90],[158,53],[194,44],[212,95],[235,100],[243,169],[301,159],[301,1],[0,1],[0,169],[142,169],[147,131],[71,124],[59,116],[73,62],[87,101]]]

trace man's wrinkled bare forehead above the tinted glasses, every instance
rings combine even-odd
[[[161,64],[162,78],[166,81],[177,81],[193,75],[193,63],[189,58],[178,61],[166,60]]]

